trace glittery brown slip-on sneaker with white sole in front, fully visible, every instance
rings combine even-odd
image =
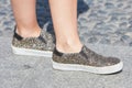
[[[105,57],[85,45],[79,53],[53,52],[53,68],[61,70],[81,70],[95,74],[113,74],[122,70],[123,63],[117,57]]]

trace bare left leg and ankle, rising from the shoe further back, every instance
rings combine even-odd
[[[36,0],[11,0],[16,22],[16,32],[23,37],[38,36],[41,29],[36,21]]]

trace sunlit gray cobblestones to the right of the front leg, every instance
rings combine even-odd
[[[85,43],[131,46],[132,0],[92,0],[89,7],[78,20]]]

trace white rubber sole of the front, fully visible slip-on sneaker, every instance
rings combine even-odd
[[[59,70],[81,70],[81,72],[88,72],[94,74],[113,74],[122,70],[123,63],[119,63],[113,66],[106,66],[106,67],[94,67],[94,66],[84,66],[84,65],[73,65],[73,64],[59,64],[54,61],[53,68],[59,69]]]

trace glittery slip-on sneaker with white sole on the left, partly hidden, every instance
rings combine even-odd
[[[14,54],[52,57],[55,45],[51,34],[42,30],[38,37],[22,37],[15,31],[16,26],[11,45]]]

